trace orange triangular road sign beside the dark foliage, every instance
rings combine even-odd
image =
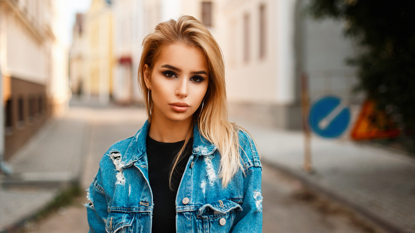
[[[400,130],[388,118],[385,112],[376,109],[373,100],[366,100],[359,118],[352,130],[354,140],[368,140],[374,138],[395,138]]]

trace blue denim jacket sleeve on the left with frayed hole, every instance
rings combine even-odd
[[[107,221],[107,199],[102,186],[101,169],[98,170],[93,182],[87,191],[88,202],[85,203],[89,232],[90,233],[106,233],[105,223]]]

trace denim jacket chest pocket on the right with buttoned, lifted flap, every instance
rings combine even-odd
[[[236,211],[242,206],[234,201],[219,200],[200,207],[198,218],[203,220],[203,228],[207,232],[229,232],[232,228]]]

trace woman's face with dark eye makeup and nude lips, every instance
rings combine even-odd
[[[207,90],[209,73],[202,51],[177,42],[163,46],[154,68],[144,65],[151,90],[152,119],[191,121]]]

